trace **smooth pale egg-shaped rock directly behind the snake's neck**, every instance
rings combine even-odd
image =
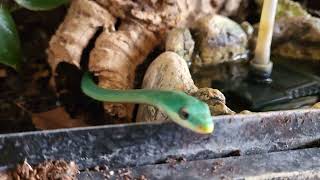
[[[174,52],[164,52],[149,66],[142,83],[144,89],[181,90],[186,93],[197,91],[191,78],[187,62]],[[136,121],[169,120],[158,109],[140,105]]]

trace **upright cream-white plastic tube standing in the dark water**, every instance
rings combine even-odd
[[[254,59],[251,65],[258,71],[271,74],[270,49],[278,0],[264,0]]]

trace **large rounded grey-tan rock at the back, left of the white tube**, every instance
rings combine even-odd
[[[227,17],[205,16],[193,27],[193,31],[197,55],[192,63],[195,67],[234,61],[247,54],[246,32]]]

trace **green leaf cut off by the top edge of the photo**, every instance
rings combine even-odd
[[[15,0],[20,6],[32,11],[46,11],[66,4],[69,0]]]

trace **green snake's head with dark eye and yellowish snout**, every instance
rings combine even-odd
[[[185,93],[176,92],[162,109],[177,124],[201,134],[210,134],[214,123],[206,103]]]

